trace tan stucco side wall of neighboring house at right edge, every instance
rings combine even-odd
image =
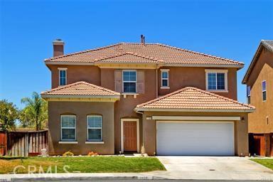
[[[262,101],[262,81],[267,82],[267,100]],[[251,87],[250,105],[256,107],[249,115],[250,133],[273,132],[273,53],[262,49],[247,85]],[[268,117],[268,119],[267,119]]]

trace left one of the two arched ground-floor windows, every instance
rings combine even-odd
[[[60,116],[60,135],[62,141],[76,140],[76,116]]]

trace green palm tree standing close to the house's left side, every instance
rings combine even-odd
[[[48,119],[48,105],[37,92],[33,92],[31,98],[25,97],[21,100],[26,107],[21,111],[20,120],[22,126],[35,126],[36,130],[45,127]]]

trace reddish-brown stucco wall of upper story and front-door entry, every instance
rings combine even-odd
[[[114,70],[112,68],[98,68],[87,65],[49,65],[52,72],[52,87],[58,87],[58,68],[68,68],[68,84],[77,81],[86,81],[95,85],[114,90]],[[114,150],[119,153],[121,150],[121,119],[138,118],[140,124],[140,146],[142,145],[142,117],[141,114],[134,112],[134,108],[144,102],[153,100],[156,95],[166,95],[169,92],[176,91],[182,87],[198,87],[205,90],[205,69],[213,68],[179,68],[165,67],[169,70],[169,90],[161,90],[161,71],[158,70],[158,92],[156,93],[156,70],[144,70],[144,93],[134,98],[127,95],[126,98],[121,95],[119,101],[114,103]],[[215,92],[218,95],[230,97],[237,100],[237,69],[220,68],[228,70],[228,92]],[[52,103],[51,105],[55,105]],[[55,108],[55,107],[54,107]],[[80,108],[80,107],[79,107]],[[50,108],[49,108],[50,109]]]

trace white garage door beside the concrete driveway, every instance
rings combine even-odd
[[[233,122],[156,122],[157,155],[234,155]]]

